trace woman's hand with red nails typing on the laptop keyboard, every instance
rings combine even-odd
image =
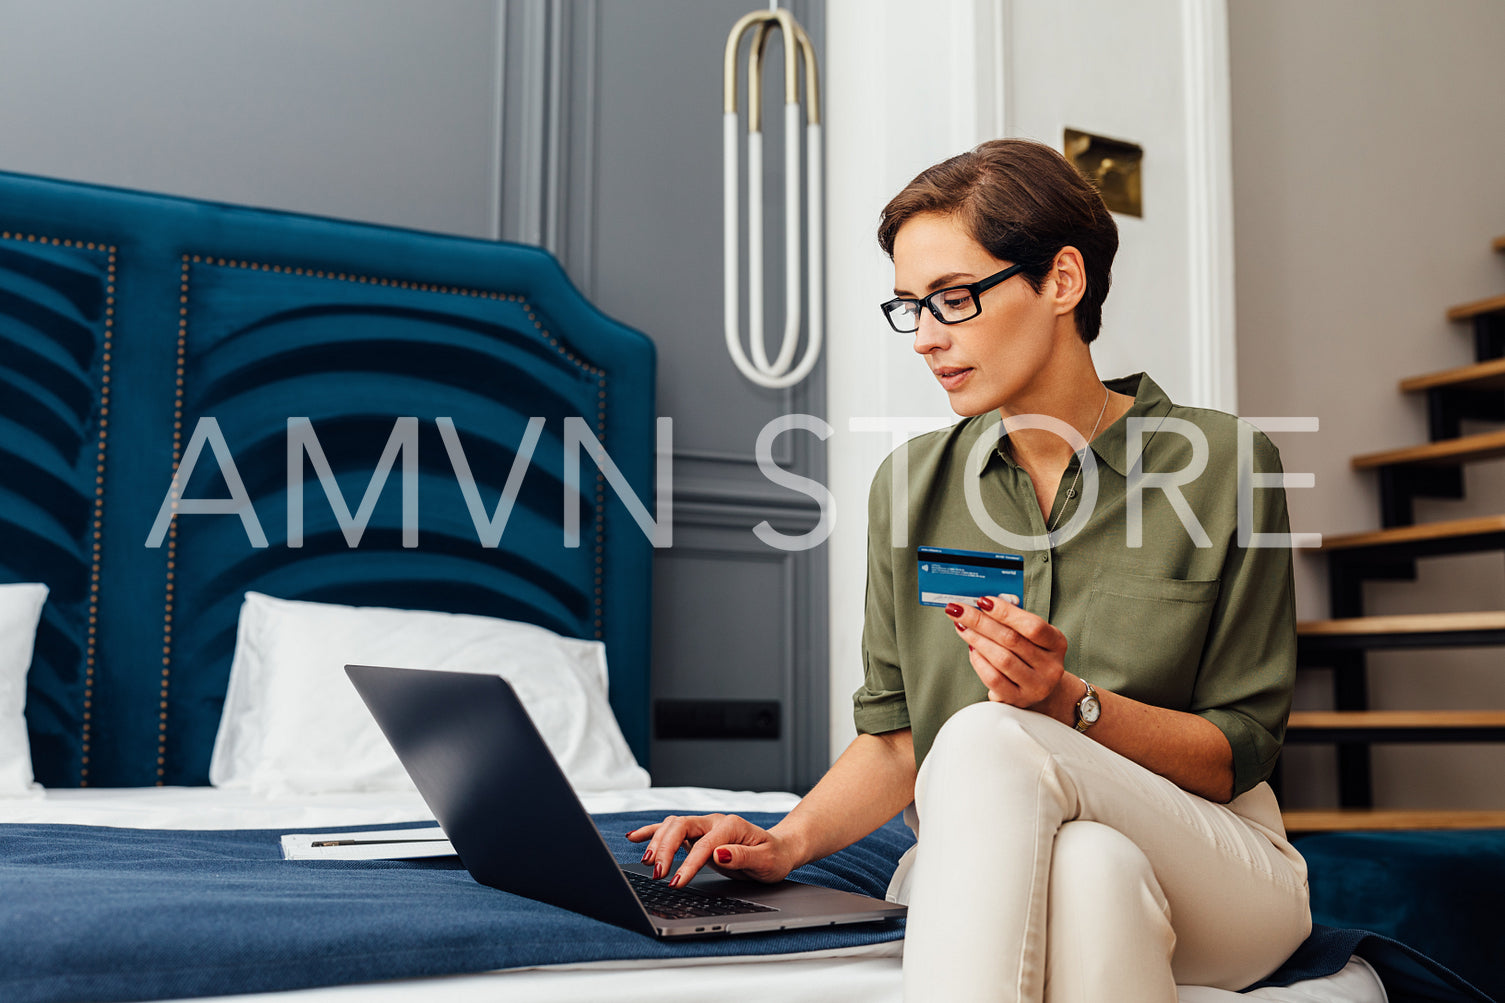
[[[632,830],[628,839],[647,840],[643,863],[653,864],[655,878],[670,872],[680,846],[689,848],[685,863],[670,878],[673,887],[686,884],[707,863],[728,878],[772,883],[783,881],[802,863],[777,828],[760,828],[739,815],[670,815]]]

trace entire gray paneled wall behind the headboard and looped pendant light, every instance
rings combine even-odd
[[[789,6],[823,51],[822,0]],[[769,419],[823,413],[823,367],[766,392],[721,343],[721,53],[748,9],[0,0],[0,169],[554,250],[587,297],[659,348],[676,545],[655,569],[655,696],[783,706],[780,741],[655,742],[655,780],[804,788],[826,765],[825,559],[752,536],[765,518],[787,533],[816,521],[752,449]],[[777,110],[783,95],[768,92]],[[771,250],[783,245],[778,139]],[[772,319],[781,274],[771,255]],[[792,434],[777,456],[823,479],[817,446]]]

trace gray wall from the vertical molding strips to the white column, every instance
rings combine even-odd
[[[825,0],[787,6],[823,72]],[[721,343],[721,53],[745,11],[740,0],[497,0],[492,229],[546,247],[588,298],[659,348],[658,411],[676,428],[674,547],[655,556],[658,696],[736,694],[777,699],[784,709],[777,750],[749,756],[746,741],[733,739],[656,742],[655,780],[804,789],[829,765],[828,554],[780,551],[754,535],[766,521],[799,536],[820,520],[813,497],[763,474],[756,444],[774,417],[823,416],[826,378],[822,363],[798,387],[749,387]],[[781,60],[769,53],[769,108],[783,104]],[[765,312],[777,319],[784,289],[775,248],[790,179],[781,176],[783,134],[769,133],[766,143]],[[781,470],[820,483],[825,456],[826,443],[801,431],[772,449]],[[707,660],[674,608],[689,601],[703,607],[698,616],[730,610],[760,626]],[[698,773],[718,768],[740,773],[734,783]]]

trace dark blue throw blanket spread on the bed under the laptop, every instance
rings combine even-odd
[[[594,818],[628,863],[641,846],[622,833],[662,813]],[[748,818],[772,825],[780,816]],[[266,992],[622,958],[780,955],[903,937],[903,922],[886,922],[658,941],[476,884],[455,857],[284,861],[278,836],[0,825],[0,1000]],[[894,819],[795,876],[880,898],[911,843]],[[1336,971],[1354,950],[1388,985],[1406,980],[1394,983],[1392,1000],[1487,1003],[1425,958],[1362,931],[1317,931],[1270,982]],[[1391,964],[1397,958],[1400,968]]]

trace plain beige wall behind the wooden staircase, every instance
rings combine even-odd
[[[1239,401],[1243,414],[1317,416],[1278,435],[1293,527],[1379,527],[1373,474],[1350,456],[1427,440],[1409,375],[1472,361],[1455,303],[1505,292],[1505,5],[1496,0],[1231,0]],[[1466,429],[1467,431],[1467,429]],[[1418,520],[1500,514],[1505,468],[1469,468],[1464,502]],[[1367,611],[1505,608],[1499,553],[1422,562],[1371,583]],[[1320,559],[1297,557],[1303,619],[1326,617]],[[1500,649],[1374,654],[1377,709],[1505,708]],[[1326,673],[1297,706],[1326,706]],[[1335,804],[1332,756],[1288,748],[1290,807]],[[1380,807],[1505,807],[1505,745],[1382,747]]]

